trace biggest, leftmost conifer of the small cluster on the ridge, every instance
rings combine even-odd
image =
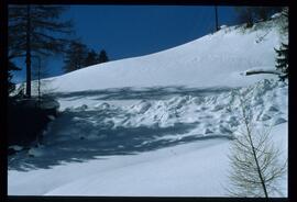
[[[86,58],[88,55],[88,48],[85,44],[79,41],[73,41],[66,50],[65,66],[66,72],[80,69],[86,65]]]

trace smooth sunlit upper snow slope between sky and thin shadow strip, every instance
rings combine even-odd
[[[246,86],[263,76],[243,79],[240,72],[274,69],[274,47],[279,45],[274,21],[257,26],[263,27],[224,27],[164,52],[87,67],[51,79],[52,88],[66,92],[152,86]]]

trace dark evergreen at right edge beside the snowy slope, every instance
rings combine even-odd
[[[277,58],[276,58],[276,69],[280,70],[283,74],[279,76],[280,80],[288,78],[288,60],[289,60],[289,49],[288,44],[282,43],[279,49],[274,48]]]

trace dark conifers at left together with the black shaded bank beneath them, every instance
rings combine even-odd
[[[62,55],[66,71],[109,60],[103,49],[97,54],[76,40],[74,23],[61,18],[68,9],[42,4],[8,7],[8,146],[38,143],[42,131],[58,114],[58,102],[41,91],[45,83],[41,82],[41,76],[45,72],[46,59]],[[15,94],[13,71],[24,68],[25,88],[21,87]],[[38,79],[38,93],[31,97],[34,74]]]

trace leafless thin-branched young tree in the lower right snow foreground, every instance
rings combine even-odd
[[[235,197],[268,198],[272,192],[280,192],[277,181],[286,172],[287,161],[279,161],[280,152],[271,139],[271,128],[256,133],[251,109],[246,105],[250,99],[244,100],[239,93],[238,97],[243,127],[229,155],[231,186],[227,191]]]

